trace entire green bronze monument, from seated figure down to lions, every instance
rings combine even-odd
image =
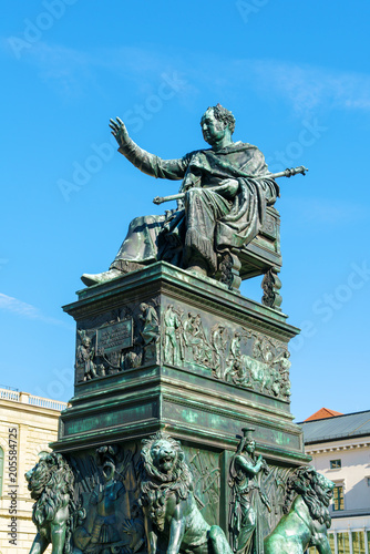
[[[277,275],[275,178],[305,168],[269,174],[258,148],[233,143],[234,124],[209,107],[210,148],[164,161],[112,122],[130,162],[183,183],[177,208],[132,222],[110,271],[84,276],[90,286],[64,308],[76,347],[52,445],[59,478],[73,478],[59,554],[330,553],[332,483],[301,468],[288,350],[299,330],[281,312]],[[261,304],[237,291],[257,275]]]

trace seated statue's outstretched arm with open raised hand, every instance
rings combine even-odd
[[[125,124],[120,117],[117,117],[117,121],[111,120],[110,127],[120,145],[119,152],[140,171],[153,177],[169,178],[173,181],[184,177],[189,161],[188,156],[179,160],[162,160],[142,150],[130,138]]]

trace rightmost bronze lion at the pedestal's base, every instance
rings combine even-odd
[[[315,468],[298,468],[287,482],[286,515],[265,538],[265,554],[304,554],[310,546],[316,546],[320,554],[331,554],[327,530],[331,524],[329,504],[333,486]]]

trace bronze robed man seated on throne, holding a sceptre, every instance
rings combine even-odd
[[[271,287],[279,296],[279,216],[273,207],[279,187],[275,178],[305,173],[305,167],[269,173],[256,146],[233,142],[235,117],[220,104],[208,107],[201,121],[210,148],[177,160],[162,160],[142,150],[119,117],[110,126],[119,152],[133,165],[156,178],[182,181],[182,185],[179,194],[154,201],[177,198],[175,209],[133,219],[110,269],[84,274],[82,281],[96,285],[163,260],[226,283],[230,289],[237,289],[243,278],[265,274],[269,276],[265,297]],[[275,298],[273,307],[278,305]]]

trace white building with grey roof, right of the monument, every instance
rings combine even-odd
[[[322,408],[301,423],[306,453],[336,483],[330,507],[332,552],[369,554],[370,411],[338,413]]]

